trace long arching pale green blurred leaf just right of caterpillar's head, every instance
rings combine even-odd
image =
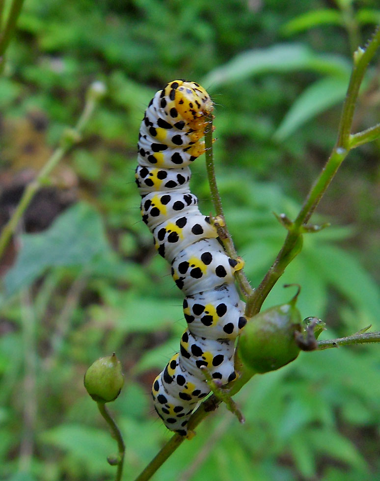
[[[240,53],[225,65],[212,70],[202,81],[215,90],[225,83],[244,80],[266,72],[310,70],[329,75],[346,75],[349,62],[340,55],[314,53],[305,45],[279,44],[267,49]]]

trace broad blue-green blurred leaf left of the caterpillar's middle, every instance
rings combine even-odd
[[[80,202],[40,234],[21,236],[22,248],[4,283],[8,295],[32,284],[48,267],[85,266],[109,245],[100,215]]]

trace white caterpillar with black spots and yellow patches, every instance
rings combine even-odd
[[[189,188],[189,165],[205,151],[201,138],[213,107],[198,83],[169,82],[150,101],[137,145],[142,220],[185,295],[188,324],[179,352],[154,380],[152,397],[165,426],[183,436],[197,403],[210,392],[201,368],[221,385],[235,379],[234,341],[246,324],[234,283],[243,261],[225,253]]]

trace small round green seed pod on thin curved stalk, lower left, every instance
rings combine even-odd
[[[84,374],[84,387],[96,402],[114,401],[123,384],[121,364],[115,353],[95,361]]]

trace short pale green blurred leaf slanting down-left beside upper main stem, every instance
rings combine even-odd
[[[347,91],[350,74],[339,77],[326,77],[307,87],[285,115],[273,138],[283,141],[302,124],[327,108],[341,102]]]

